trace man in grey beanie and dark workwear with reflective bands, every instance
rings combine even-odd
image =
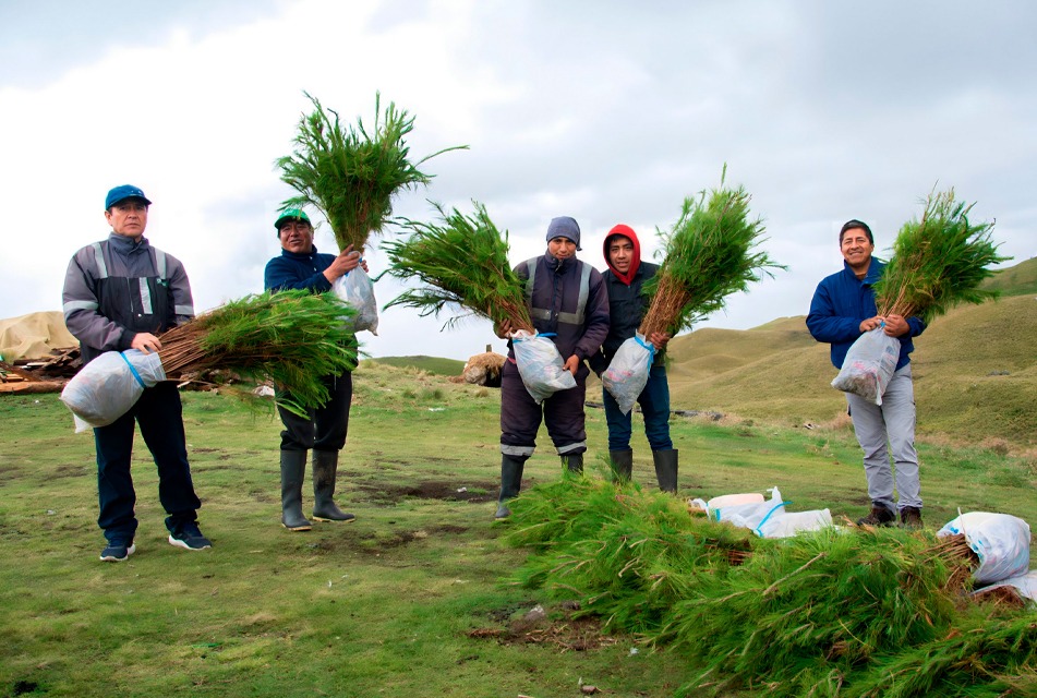
[[[559,216],[547,226],[547,251],[515,267],[526,284],[533,328],[553,335],[551,340],[576,378],[576,387],[558,390],[538,405],[519,375],[515,350],[509,349],[501,371],[498,519],[511,515],[507,502],[521,490],[522,470],[536,447],[541,421],[565,466],[571,472],[583,471],[583,400],[590,374],[584,362],[598,353],[608,334],[608,294],[598,269],[576,258],[579,249],[580,226],[569,216]],[[502,338],[511,333],[508,322],[495,329]]]

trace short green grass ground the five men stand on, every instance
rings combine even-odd
[[[0,696],[671,696],[688,666],[511,582],[522,550],[492,522],[498,394],[365,361],[339,485],[350,525],[279,526],[279,423],[234,399],[183,396],[203,531],[165,541],[137,444],[138,552],[97,559],[93,440],[57,396],[0,399]],[[639,420],[639,418],[637,418]],[[638,422],[639,423],[639,422]],[[680,496],[777,485],[794,510],[857,517],[867,497],[846,423],[675,419]],[[604,420],[589,410],[589,477]],[[526,486],[559,477],[541,434]],[[635,476],[652,488],[637,436]],[[920,444],[928,533],[963,510],[1037,521],[1037,461],[999,444]],[[312,498],[309,481],[305,503]],[[535,626],[524,614],[543,603]],[[747,694],[748,695],[748,694]]]

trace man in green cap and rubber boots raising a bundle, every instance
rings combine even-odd
[[[289,289],[324,293],[336,279],[362,264],[352,245],[339,254],[317,252],[313,225],[304,210],[288,208],[274,222],[281,253],[266,263],[263,286],[269,291]],[[333,496],[338,474],[338,455],[346,446],[353,377],[349,371],[323,378],[330,399],[323,407],[299,417],[278,407],[281,432],[281,524],[289,531],[309,531],[302,515],[302,482],[306,452],[313,450],[313,518],[318,521],[352,521],[355,517],[338,508]]]

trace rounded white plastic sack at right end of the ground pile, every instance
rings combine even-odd
[[[973,573],[977,585],[989,585],[1025,575],[1029,569],[1029,525],[1010,514],[969,512],[937,531],[938,538],[965,534],[979,556]]]

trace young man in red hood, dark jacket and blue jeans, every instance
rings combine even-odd
[[[608,368],[619,346],[637,332],[649,298],[642,293],[644,282],[655,276],[659,267],[641,262],[641,243],[629,226],[619,224],[605,236],[602,252],[608,269],[602,274],[608,292],[608,335],[601,353],[591,360],[598,375]],[[666,382],[665,350],[670,335],[655,333],[648,340],[655,347],[655,358],[638,405],[644,416],[644,435],[652,447],[655,478],[664,492],[677,491],[677,450],[670,438],[670,384]],[[608,454],[613,469],[620,480],[629,480],[634,472],[634,450],[630,448],[631,412],[624,414],[608,390],[602,389],[605,420],[608,423]]]

